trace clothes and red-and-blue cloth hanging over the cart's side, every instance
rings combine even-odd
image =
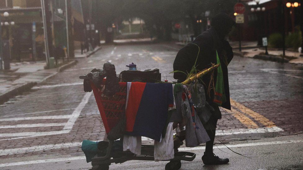
[[[148,137],[155,141],[155,161],[173,159],[176,123],[185,126],[187,147],[209,141],[195,107],[205,107],[203,85],[129,82],[123,151],[140,155],[141,137]]]

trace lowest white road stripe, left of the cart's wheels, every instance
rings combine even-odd
[[[24,161],[24,162],[13,162],[13,163],[1,163],[0,167],[16,166],[16,165],[28,165],[35,163],[49,163],[49,162],[60,162],[60,161],[71,161],[71,160],[80,160],[86,159],[85,156],[69,157],[69,158],[57,158],[57,159],[44,159],[44,160],[33,160],[33,161]]]

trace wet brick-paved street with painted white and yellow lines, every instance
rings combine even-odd
[[[162,80],[174,81],[169,72],[178,49],[180,46],[174,43],[103,46],[91,57],[79,59],[77,65],[0,105],[0,169],[90,168],[83,159],[81,141],[102,140],[104,128],[98,120],[95,99],[91,93],[83,92],[79,75],[102,68],[106,61],[115,64],[116,72],[133,62],[139,70],[159,68]],[[202,167],[201,148],[193,151],[197,158],[183,163],[182,169],[301,168],[303,70],[288,63],[239,56],[234,57],[228,69],[232,111],[222,110],[216,134],[230,145],[248,143],[235,146],[234,150],[253,159],[226,148],[221,150],[229,155],[215,149],[216,154],[232,158],[230,165]],[[216,145],[222,144],[216,141]],[[132,161],[111,165],[111,169],[162,169],[163,165],[165,162]]]

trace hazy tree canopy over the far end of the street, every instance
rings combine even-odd
[[[97,0],[99,15],[97,22],[102,30],[112,23],[138,17],[145,21],[147,29],[154,31],[159,39],[171,38],[172,24],[190,20],[195,24],[197,18],[205,17],[210,11],[210,18],[219,13],[233,13],[237,0]]]

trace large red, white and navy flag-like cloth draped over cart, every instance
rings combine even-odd
[[[149,137],[160,142],[168,108],[173,104],[172,84],[129,82],[125,134]]]

